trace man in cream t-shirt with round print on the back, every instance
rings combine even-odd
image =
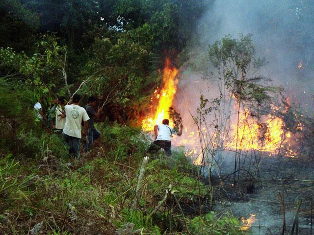
[[[89,117],[86,110],[79,106],[80,95],[75,94],[72,97],[72,104],[66,105],[65,110],[65,124],[63,129],[63,137],[67,145],[71,146],[70,150],[74,152],[74,156],[79,156],[79,143],[81,139],[81,122],[84,121],[83,136],[87,133],[87,120]],[[72,143],[72,145],[71,145]]]

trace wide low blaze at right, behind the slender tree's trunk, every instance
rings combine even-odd
[[[233,140],[229,146],[234,149],[274,152],[290,138],[290,133],[285,133],[283,127],[281,118],[268,115],[263,124],[258,124],[248,111],[244,111],[239,118],[239,126],[232,126]]]

